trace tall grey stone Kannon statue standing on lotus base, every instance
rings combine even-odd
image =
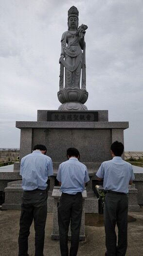
[[[59,110],[87,110],[86,90],[86,43],[87,25],[78,27],[78,10],[72,6],[68,11],[68,31],[61,38]],[[65,80],[65,85],[64,85]],[[81,80],[81,88],[80,88]]]

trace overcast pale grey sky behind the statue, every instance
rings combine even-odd
[[[0,148],[19,147],[16,121],[58,109],[61,35],[79,10],[89,110],[129,121],[125,150],[143,151],[143,0],[0,0]]]

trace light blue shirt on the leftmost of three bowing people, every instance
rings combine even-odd
[[[22,176],[22,189],[31,191],[47,188],[48,176],[53,175],[53,164],[49,156],[34,150],[21,159],[20,175]]]

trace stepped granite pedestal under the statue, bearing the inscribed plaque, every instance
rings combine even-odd
[[[60,110],[56,111],[59,120],[47,121],[50,112],[54,110],[38,110],[37,122],[16,122],[16,127],[21,130],[19,160],[40,143],[47,147],[47,155],[52,158],[55,168],[67,160],[66,149],[74,147],[80,151],[80,161],[85,162],[89,169],[91,163],[110,159],[112,142],[119,140],[124,143],[124,129],[128,128],[128,122],[108,122],[107,110],[86,111],[89,115],[98,112],[98,121],[63,121]],[[19,169],[18,163],[14,169]]]

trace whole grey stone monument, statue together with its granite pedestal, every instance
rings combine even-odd
[[[77,8],[72,6],[68,11],[68,31],[64,32],[61,38],[57,95],[62,105],[58,110],[37,110],[35,122],[16,122],[16,127],[21,130],[19,163],[14,164],[17,179],[20,179],[20,160],[31,153],[34,145],[45,145],[47,155],[53,160],[54,175],[50,177],[48,212],[53,212],[52,192],[57,185],[58,166],[67,160],[66,150],[72,147],[79,150],[81,162],[89,171],[85,213],[98,213],[98,201],[93,192],[95,173],[103,161],[110,159],[110,145],[115,140],[124,143],[124,129],[128,128],[128,122],[108,122],[107,110],[88,110],[84,105],[88,99],[85,54],[85,30],[88,27],[84,24],[78,26],[78,15]],[[18,209],[21,202],[17,192],[21,192],[21,183],[9,181],[5,189],[6,200],[2,207]],[[11,196],[11,193],[14,195]],[[130,210],[134,211],[135,208],[131,208],[130,205]]]

